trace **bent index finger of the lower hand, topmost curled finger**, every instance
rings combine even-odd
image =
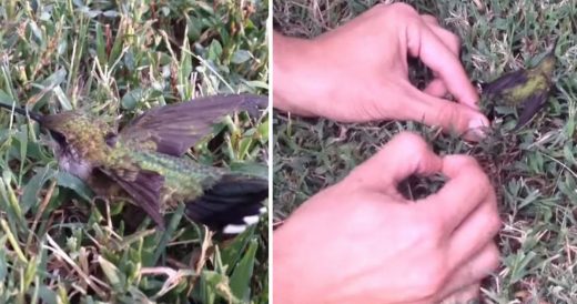
[[[487,176],[473,158],[445,156],[442,173],[448,181],[437,193],[421,200],[417,206],[438,219],[443,231],[452,235],[494,193]]]

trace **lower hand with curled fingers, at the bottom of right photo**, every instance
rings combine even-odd
[[[416,203],[412,174],[448,178]],[[274,234],[275,303],[436,303],[494,271],[494,190],[468,156],[433,153],[403,133],[342,182],[305,202]]]

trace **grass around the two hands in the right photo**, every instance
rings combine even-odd
[[[372,0],[274,1],[279,30],[315,37],[376,4]],[[392,2],[392,1],[382,1]],[[515,120],[499,115],[495,132],[479,144],[441,134],[414,122],[342,124],[275,113],[273,118],[274,222],[303,201],[343,179],[403,130],[423,134],[441,154],[475,156],[499,197],[504,227],[497,237],[503,260],[485,282],[487,303],[577,303],[577,9],[575,1],[407,1],[436,16],[463,40],[462,61],[477,82],[532,65],[560,36],[555,90],[547,107],[517,134]],[[426,80],[422,65],[415,83]],[[502,128],[503,126],[503,128]],[[438,183],[404,185],[433,192]]]

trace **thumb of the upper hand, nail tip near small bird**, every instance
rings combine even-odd
[[[413,104],[414,109],[406,111],[406,119],[427,125],[438,125],[445,132],[457,132],[470,141],[479,141],[485,138],[485,130],[489,126],[489,121],[478,109],[436,98],[418,90],[412,90],[407,98],[413,100],[406,101],[406,104]]]

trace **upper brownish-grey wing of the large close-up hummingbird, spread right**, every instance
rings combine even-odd
[[[265,108],[267,98],[252,94],[214,95],[189,102],[152,109],[122,129],[123,142],[154,142],[155,151],[180,156],[194,143],[209,134],[212,125],[234,111],[249,111],[256,115]]]

